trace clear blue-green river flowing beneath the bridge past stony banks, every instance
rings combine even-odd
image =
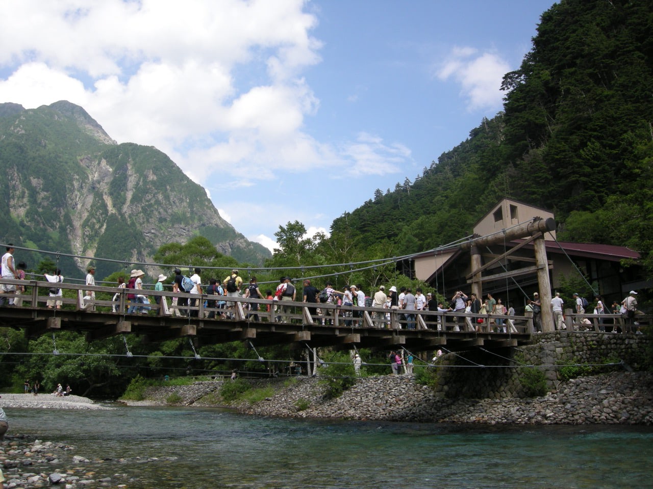
[[[91,463],[95,477],[126,474],[132,489],[653,485],[653,429],[641,426],[327,422],[199,408],[7,411],[11,432],[104,459]]]

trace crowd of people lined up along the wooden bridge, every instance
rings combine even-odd
[[[15,262],[14,251],[13,244],[8,244],[7,252],[2,257],[0,276],[3,279],[24,280],[26,265],[24,262]],[[92,288],[95,286],[95,267],[89,265],[86,272],[85,284]],[[310,279],[302,280],[302,288],[298,290],[293,283],[293,279],[288,276],[283,276],[279,279],[279,283],[274,291],[272,289],[266,289],[263,292],[255,276],[249,279],[249,283],[245,283],[238,274],[238,269],[232,269],[231,273],[223,278],[223,280],[210,278],[208,280],[208,286],[202,285],[202,270],[200,268],[195,268],[193,272],[190,277],[186,277],[180,269],[174,269],[174,278],[170,286],[173,292],[183,292],[198,296],[218,296],[219,298],[216,297],[215,299],[211,297],[204,298],[204,306],[208,308],[206,312],[208,318],[234,318],[235,303],[229,300],[230,297],[260,299],[261,303],[250,301],[244,304],[247,317],[254,321],[259,321],[261,317],[270,317],[280,323],[293,321],[292,314],[294,308],[291,304],[296,302],[308,303],[308,310],[311,316],[317,318],[317,320],[325,325],[333,324],[335,316],[338,314],[342,316],[342,320],[347,327],[362,325],[363,310],[358,308],[360,306],[384,310],[383,312],[379,310],[374,311],[371,315],[376,327],[390,327],[392,324],[390,312],[392,310],[400,310],[395,327],[402,327],[404,325],[406,329],[415,329],[417,327],[416,315],[419,311],[467,312],[478,314],[479,316],[489,316],[488,318],[475,318],[473,323],[469,318],[464,321],[464,324],[458,325],[456,322],[453,325],[453,331],[463,329],[464,331],[506,333],[509,330],[511,321],[501,316],[515,316],[513,304],[505,303],[501,297],[495,298],[491,293],[488,293],[481,300],[474,293],[468,295],[458,290],[451,297],[451,300],[438,301],[435,292],[429,291],[424,294],[421,288],[416,288],[413,293],[411,288],[401,287],[397,289],[396,286],[390,286],[386,292],[385,286],[381,285],[374,293],[366,295],[363,286],[360,284],[351,284],[342,289],[336,289],[334,288],[334,284],[327,280],[323,288],[318,288],[315,284],[311,283]],[[52,273],[44,273],[43,276],[51,284],[48,289],[46,306],[48,308],[61,308],[63,305],[63,291],[58,286],[58,284],[64,282],[61,269],[56,268]],[[118,289],[135,289],[133,292],[130,291],[127,293],[128,314],[148,314],[151,310],[148,293],[144,289],[142,280],[144,276],[145,273],[142,270],[133,269],[127,282],[123,278],[118,278]],[[168,280],[168,276],[160,274],[155,283],[154,290],[163,291],[166,280]],[[24,286],[0,284],[0,306],[5,304],[10,306],[20,305],[20,298],[14,297],[14,295],[24,291]],[[118,290],[113,297],[114,312],[118,312],[118,301],[120,297],[121,291]],[[178,316],[189,315],[191,317],[197,317],[199,315],[200,300],[202,300],[200,297],[174,296],[172,297],[170,307],[171,312]],[[155,295],[154,301],[157,306],[160,306],[161,296]],[[263,301],[266,302],[264,303]],[[611,306],[605,303],[601,296],[596,296],[594,303],[588,304],[578,294],[574,294],[573,301],[573,312],[575,314],[592,314],[592,312],[598,315],[621,314],[627,325],[635,323],[635,314],[638,314],[637,292],[634,290],[630,291],[629,295],[622,301],[614,301]],[[86,310],[95,310],[95,291],[93,289],[85,291],[84,303],[86,304]],[[527,298],[525,310],[526,312],[532,312],[534,331],[536,332],[542,331],[542,307],[543,304],[539,299],[539,293],[535,292],[532,298]],[[556,293],[552,298],[550,307],[552,308],[554,318],[554,328],[565,329],[564,301],[560,298],[560,293]],[[215,309],[217,309],[217,312]],[[259,315],[259,312],[266,312],[267,314]],[[605,325],[610,322],[612,321],[609,321],[608,318],[599,319],[599,331],[608,331]],[[587,325],[591,325],[591,321],[584,318],[575,327],[579,328]],[[610,331],[616,333],[616,325]]]

